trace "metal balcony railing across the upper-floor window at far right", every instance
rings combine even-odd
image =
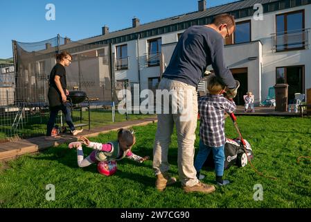
[[[308,49],[310,28],[272,34],[272,51]]]

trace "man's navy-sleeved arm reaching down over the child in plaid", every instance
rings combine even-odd
[[[221,40],[215,41],[211,52],[211,65],[215,75],[221,78],[224,85],[229,89],[236,89],[236,80],[234,80],[231,71],[224,64],[224,42]]]

